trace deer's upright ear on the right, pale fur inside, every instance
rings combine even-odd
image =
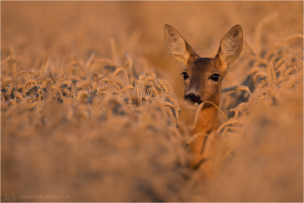
[[[215,58],[219,57],[227,66],[237,59],[243,47],[243,30],[240,25],[233,26],[222,39]]]

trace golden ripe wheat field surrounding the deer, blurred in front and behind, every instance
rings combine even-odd
[[[165,24],[243,29],[210,179]],[[303,105],[303,1],[1,1],[2,202],[303,202]]]

